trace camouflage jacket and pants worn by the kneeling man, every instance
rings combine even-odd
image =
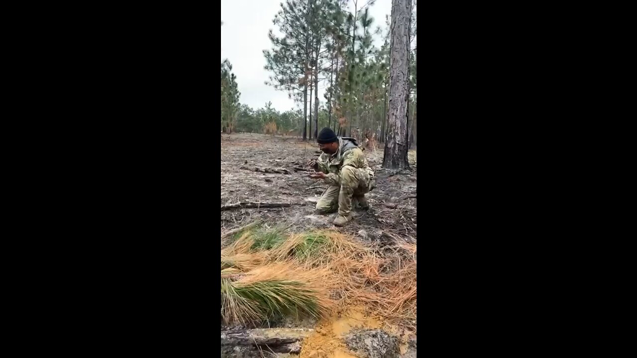
[[[374,172],[354,138],[338,137],[338,151],[318,157],[318,171],[327,174],[328,185],[318,199],[316,209],[322,213],[338,213],[347,217],[354,201],[364,201],[366,192],[374,189]]]

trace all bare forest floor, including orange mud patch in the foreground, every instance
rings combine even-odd
[[[379,241],[389,240],[394,243],[412,245],[415,253],[417,232],[416,211],[416,155],[410,152],[411,169],[395,171],[383,169],[383,149],[366,150],[369,166],[375,171],[376,188],[366,194],[369,210],[352,211],[354,220],[344,227],[335,227],[332,222],[336,214],[320,215],[315,213],[318,197],[326,189],[322,181],[310,178],[312,172],[306,166],[309,159],[317,158],[320,152],[315,141],[303,141],[299,137],[270,136],[266,134],[236,133],[222,134],[221,142],[221,234],[243,227],[259,220],[262,225],[279,227],[289,233],[301,233],[313,229],[329,229],[347,234],[366,246],[373,247]],[[282,204],[282,207],[263,208],[264,203]],[[234,205],[233,205],[234,204]],[[255,206],[246,208],[248,206]],[[222,247],[224,240],[222,240]],[[415,255],[414,255],[415,260]],[[415,276],[415,274],[414,274]],[[415,297],[415,287],[413,287]],[[415,304],[415,303],[414,303]],[[359,325],[352,323],[358,317]],[[413,326],[394,331],[394,336],[401,336],[398,355],[378,355],[386,357],[415,357],[415,320]],[[352,347],[369,343],[365,334],[372,334],[374,347],[367,347],[369,352],[378,350],[384,343],[381,338],[386,334],[378,333],[382,325],[373,317],[365,316],[361,308],[351,308],[331,320],[303,322],[284,320],[268,323],[269,327],[280,329],[315,330],[315,333],[303,340],[300,358],[312,357],[364,357],[365,354],[352,355]],[[326,335],[326,327],[330,333]],[[347,329],[343,329],[346,327]],[[343,337],[354,327],[368,329],[360,331],[357,342],[352,343],[350,350],[344,350]],[[245,328],[245,327],[244,327]],[[227,329],[222,325],[222,336]],[[391,329],[385,329],[390,332]],[[358,332],[358,331],[356,331]],[[319,334],[320,333],[320,334]],[[337,339],[338,334],[340,338]],[[331,336],[330,336],[331,334]],[[391,335],[390,334],[390,335]],[[326,340],[326,337],[333,337]],[[379,338],[380,337],[380,338]],[[334,343],[338,341],[339,343]],[[379,343],[380,342],[380,343]],[[321,348],[324,347],[324,348]],[[328,348],[326,347],[331,347]],[[222,356],[251,357],[250,352],[234,347]],[[363,349],[363,348],[361,348]],[[385,348],[383,348],[385,349]],[[327,353],[326,353],[327,350]],[[268,352],[265,352],[266,354]],[[264,356],[264,352],[260,352]],[[272,354],[289,357],[289,354]],[[258,355],[257,355],[258,356]],[[375,357],[375,354],[368,354]],[[292,355],[292,357],[297,357]]]

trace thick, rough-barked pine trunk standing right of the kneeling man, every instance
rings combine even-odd
[[[409,55],[412,0],[392,0],[389,111],[383,168],[409,168]]]

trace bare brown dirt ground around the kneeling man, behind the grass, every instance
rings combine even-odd
[[[370,234],[368,238],[382,230],[393,238],[415,241],[415,152],[410,152],[412,168],[399,172],[381,168],[382,148],[365,153],[376,176],[376,188],[366,195],[370,208],[353,211],[355,220],[338,230],[359,237]],[[332,221],[336,214],[314,212],[316,201],[327,185],[308,176],[311,169],[307,168],[306,162],[319,154],[315,141],[303,141],[299,137],[222,134],[221,205],[239,202],[290,204],[281,208],[222,208],[222,233],[257,218],[266,226],[283,226],[290,231],[310,227],[335,228]]]

